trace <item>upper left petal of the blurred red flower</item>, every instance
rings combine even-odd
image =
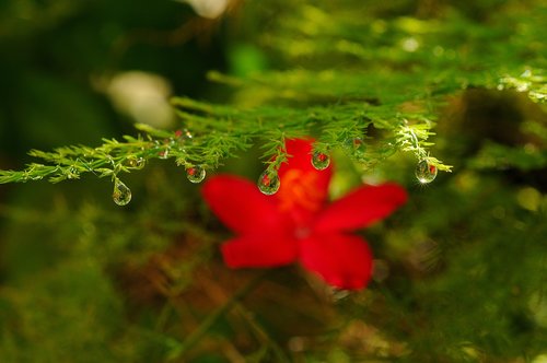
[[[208,179],[201,190],[214,214],[237,233],[284,231],[287,219],[275,200],[263,195],[253,183],[230,175]]]

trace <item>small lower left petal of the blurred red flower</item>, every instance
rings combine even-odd
[[[231,268],[276,267],[293,262],[296,241],[279,234],[255,234],[233,238],[221,246],[224,262]]]

